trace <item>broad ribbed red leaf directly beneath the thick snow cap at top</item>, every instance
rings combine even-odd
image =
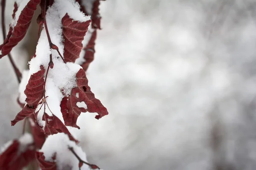
[[[86,22],[74,21],[66,14],[61,21],[64,37],[64,59],[66,62],[75,62],[82,50],[82,41],[90,25],[90,20]]]

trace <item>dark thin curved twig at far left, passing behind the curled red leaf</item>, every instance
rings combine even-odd
[[[3,33],[3,40],[6,39],[6,28],[5,28],[5,6],[6,6],[6,0],[2,0],[1,1],[1,6],[2,6],[2,33]],[[15,65],[11,54],[7,54],[11,64],[12,64],[12,68],[15,71],[16,77],[18,82],[20,83],[20,79],[22,77],[22,74],[20,73],[19,69],[17,68],[17,66]]]

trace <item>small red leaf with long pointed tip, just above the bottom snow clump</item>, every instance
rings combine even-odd
[[[78,143],[78,141],[71,135],[67,127],[61,122],[61,120],[52,114],[49,116],[47,113],[44,113],[43,120],[45,121],[44,133],[47,135],[53,135],[57,133],[66,133],[70,140]]]

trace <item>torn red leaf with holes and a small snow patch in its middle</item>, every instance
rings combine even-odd
[[[80,69],[76,74],[77,88],[71,90],[70,96],[64,97],[61,101],[61,112],[66,126],[72,126],[79,128],[76,125],[77,118],[81,112],[98,113],[95,118],[99,119],[102,116],[108,115],[107,109],[102,105],[99,99],[96,99],[94,94],[90,91],[88,86],[88,79],[86,78],[83,69]],[[79,97],[76,97],[76,93]],[[79,108],[76,103],[85,102],[87,109]]]

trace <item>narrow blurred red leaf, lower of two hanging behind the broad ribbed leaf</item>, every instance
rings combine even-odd
[[[95,53],[94,46],[95,46],[96,36],[97,36],[97,30],[95,29],[93,31],[91,37],[90,37],[90,40],[89,40],[88,44],[84,48],[84,51],[85,51],[85,54],[84,54],[85,62],[81,64],[81,67],[84,69],[84,71],[87,71],[90,63],[94,59],[94,53]]]

